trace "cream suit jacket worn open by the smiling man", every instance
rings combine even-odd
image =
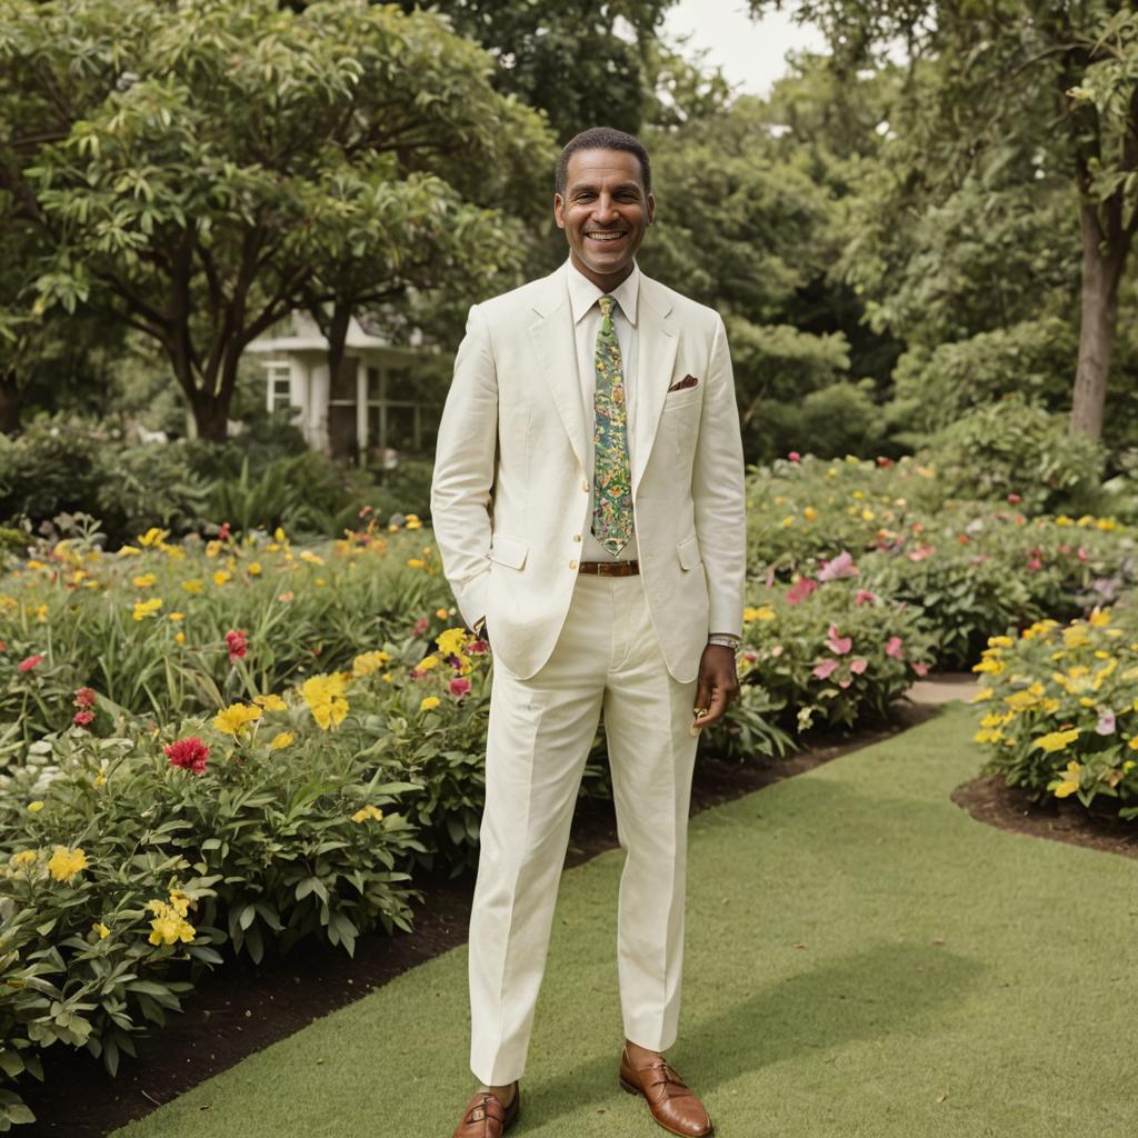
[[[591,525],[568,266],[470,310],[439,424],[431,518],[463,619],[527,679],[556,643]],[[649,611],[671,675],[742,632],[743,448],[714,310],[641,275],[632,490]],[[699,382],[668,388],[694,376]]]

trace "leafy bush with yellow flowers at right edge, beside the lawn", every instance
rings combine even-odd
[[[993,637],[973,670],[987,685],[976,742],[987,769],[1037,800],[1077,798],[1138,818],[1138,622],[1107,609]]]

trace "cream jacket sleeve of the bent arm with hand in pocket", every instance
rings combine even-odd
[[[497,372],[486,318],[476,304],[454,360],[430,493],[443,571],[471,628],[486,615],[496,445]]]

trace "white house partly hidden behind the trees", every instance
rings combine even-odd
[[[265,369],[265,406],[296,407],[292,421],[308,445],[356,464],[387,467],[401,451],[422,451],[437,423],[413,398],[407,369],[421,348],[394,347],[369,330],[366,318],[348,325],[344,366],[329,384],[328,339],[306,312],[294,312],[247,352]]]

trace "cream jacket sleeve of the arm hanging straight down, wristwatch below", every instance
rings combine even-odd
[[[747,585],[743,440],[727,331],[723,319],[718,315],[715,319],[708,389],[695,444],[692,500],[708,578],[708,632],[741,636]]]

